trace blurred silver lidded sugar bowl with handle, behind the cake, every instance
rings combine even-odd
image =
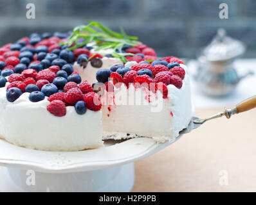
[[[245,50],[242,42],[228,37],[224,29],[218,29],[212,42],[197,55],[197,87],[207,95],[230,94],[241,79],[251,74],[248,72],[238,76],[234,69],[233,61],[244,54]]]

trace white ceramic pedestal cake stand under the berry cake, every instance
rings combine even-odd
[[[181,135],[178,136],[180,138]],[[78,152],[37,151],[0,140],[1,192],[129,192],[133,162],[172,142],[151,138],[107,140],[105,147]]]

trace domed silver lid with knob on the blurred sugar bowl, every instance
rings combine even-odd
[[[203,49],[199,58],[208,61],[230,60],[243,54],[245,49],[241,41],[228,37],[226,31],[220,28],[212,42]]]

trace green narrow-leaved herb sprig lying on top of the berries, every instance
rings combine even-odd
[[[84,38],[84,42],[78,44],[78,39]],[[123,45],[134,46],[141,44],[137,41],[137,37],[128,36],[123,28],[120,28],[120,33],[112,31],[106,28],[102,24],[96,21],[88,21],[87,25],[77,26],[73,29],[73,33],[68,38],[67,42],[62,44],[68,45],[70,50],[83,47],[84,45],[95,42],[96,49],[99,51],[102,49],[113,49],[113,57],[120,58],[123,62],[127,62],[125,56],[132,56],[133,53],[121,53]],[[119,53],[117,51],[120,51]]]

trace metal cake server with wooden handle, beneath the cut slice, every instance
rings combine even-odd
[[[198,117],[193,117],[190,124],[188,124],[188,127],[180,131],[179,134],[190,133],[192,129],[196,129],[197,127],[201,126],[201,124],[204,124],[208,120],[216,119],[223,116],[226,116],[227,119],[230,119],[230,117],[234,114],[242,113],[244,111],[248,111],[253,108],[256,108],[256,95],[242,102],[239,102],[239,104],[237,104],[236,106],[233,106],[232,108],[224,108],[224,111],[217,113],[215,115],[212,115],[206,119],[199,119]]]

